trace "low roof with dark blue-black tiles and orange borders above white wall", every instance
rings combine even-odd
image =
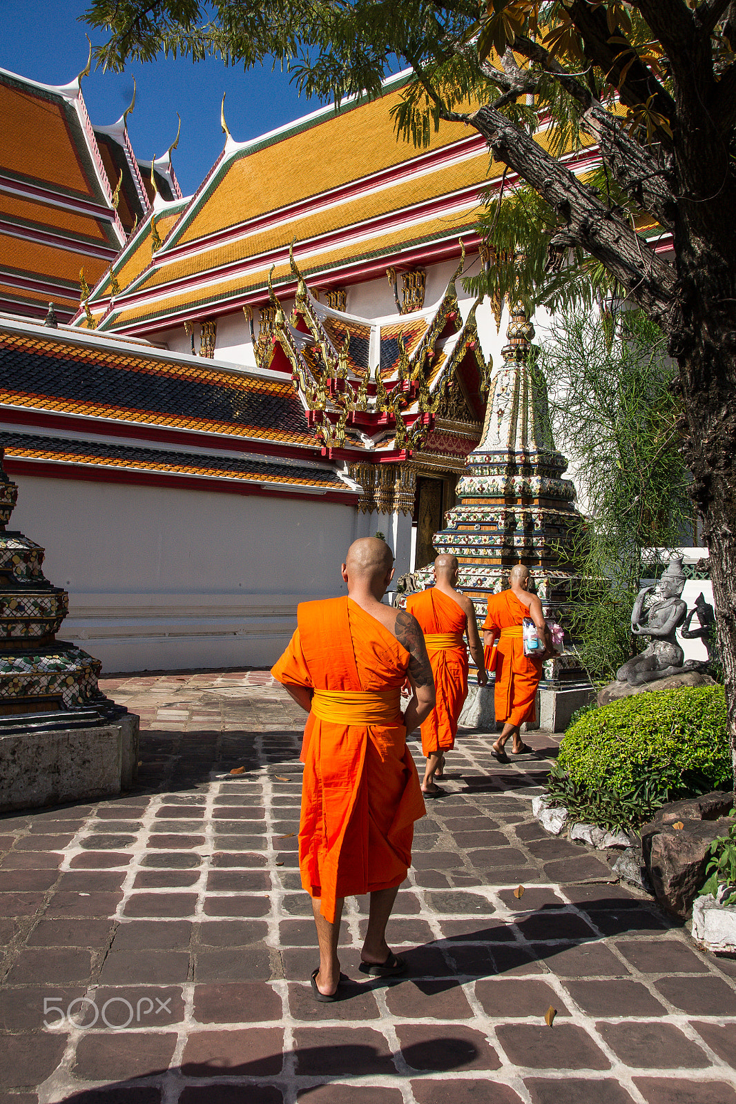
[[[1,318],[0,437],[31,473],[355,497],[283,375]]]

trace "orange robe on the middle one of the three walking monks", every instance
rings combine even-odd
[[[408,597],[407,609],[417,618],[425,637],[439,633],[455,633],[462,637],[467,628],[464,609],[434,586]],[[467,649],[464,641],[448,648],[428,639],[427,652],[434,676],[437,704],[421,729],[425,756],[430,752],[455,746],[458,721],[467,697]]]

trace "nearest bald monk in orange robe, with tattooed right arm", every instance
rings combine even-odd
[[[434,683],[416,619],[380,601],[392,575],[386,541],[355,541],[343,564],[348,596],[301,604],[298,627],[271,672],[309,713],[299,871],[319,944],[312,991],[322,1001],[336,999],[346,896],[370,893],[360,969],[386,977],[407,968],[386,942],[386,925],[411,862],[413,822],[425,813],[407,730],[433,708]],[[402,715],[407,676],[413,697]]]

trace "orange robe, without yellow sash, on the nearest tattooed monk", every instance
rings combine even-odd
[[[338,898],[399,885],[411,863],[414,820],[425,809],[399,708],[410,655],[347,597],[302,603],[297,625],[271,671],[280,682],[330,691],[397,689],[396,723],[307,718],[299,871],[332,923]]]

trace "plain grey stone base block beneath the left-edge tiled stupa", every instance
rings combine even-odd
[[[130,786],[138,766],[138,718],[54,724],[19,715],[0,725],[0,813],[93,800]],[[65,726],[66,725],[66,726]]]

